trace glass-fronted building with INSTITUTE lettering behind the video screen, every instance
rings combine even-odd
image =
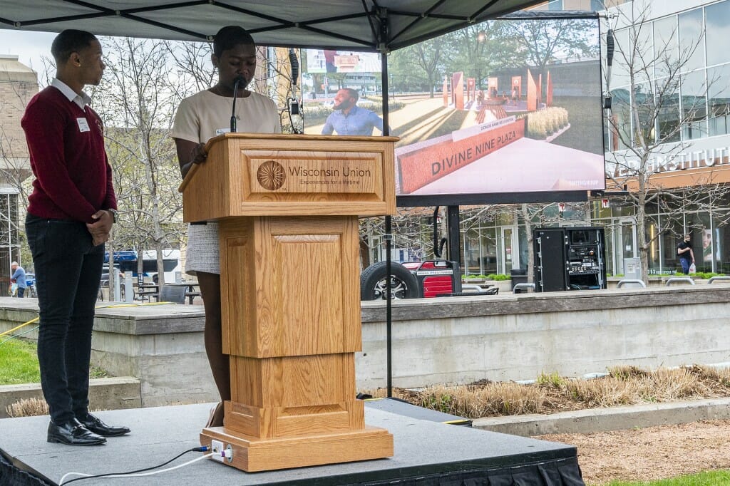
[[[631,3],[606,2],[610,7],[642,9]],[[730,50],[725,45],[730,39],[730,0],[649,4],[641,24],[614,27],[617,53],[610,80],[614,123],[607,120],[605,124],[607,161],[625,154],[629,144],[637,143],[631,135],[648,124],[653,125],[650,139],[677,147],[675,155],[685,166],[675,167],[675,174],[685,177],[712,169],[712,177],[685,177],[645,205],[649,271],[678,271],[677,244],[684,234],[690,234],[697,271],[730,273],[730,190],[723,189],[730,182]],[[599,10],[602,5],[589,0],[554,0],[537,9]],[[666,11],[670,7],[672,11]],[[618,46],[631,50],[632,42],[645,56],[644,69],[629,69],[618,53]],[[630,89],[631,71],[634,90]],[[660,104],[661,109],[656,110]],[[648,121],[653,114],[658,114],[656,120]],[[461,228],[464,273],[509,274],[511,269],[529,265],[528,226],[519,207],[513,208],[481,218],[477,224],[462,217],[469,220]],[[464,213],[468,211],[464,209]],[[628,198],[609,196],[604,201],[569,203],[559,215],[545,217],[550,211],[558,213],[558,205],[545,208],[541,217],[531,221],[531,228],[605,228],[608,274],[623,274],[626,258],[639,257],[637,209]]]

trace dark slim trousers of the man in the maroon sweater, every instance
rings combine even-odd
[[[40,309],[41,387],[55,423],[88,414],[94,306],[104,245],[93,246],[85,223],[28,213],[26,234]]]

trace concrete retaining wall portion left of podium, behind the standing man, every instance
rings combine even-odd
[[[220,399],[205,355],[202,306],[99,304],[91,362],[116,377],[139,379],[139,406]],[[0,331],[37,315],[34,298],[0,298]]]

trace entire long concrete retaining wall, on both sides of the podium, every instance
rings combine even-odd
[[[362,390],[386,384],[386,328],[384,302],[361,306]],[[730,285],[411,299],[392,307],[397,387],[730,361]],[[0,331],[36,315],[35,299],[0,298]],[[137,377],[142,406],[217,401],[203,325],[202,306],[98,309],[92,360]]]

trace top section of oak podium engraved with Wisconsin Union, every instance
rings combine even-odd
[[[223,134],[180,185],[186,222],[395,212],[395,136]]]

